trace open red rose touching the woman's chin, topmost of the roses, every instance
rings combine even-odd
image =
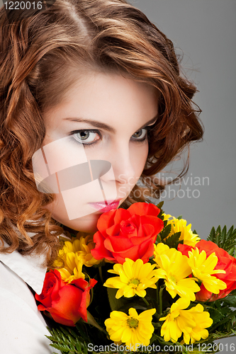
[[[147,263],[154,252],[157,234],[163,229],[163,221],[157,217],[159,209],[153,204],[137,202],[128,210],[105,212],[99,217],[94,234],[95,249],[91,254],[96,259],[123,264],[125,258]]]

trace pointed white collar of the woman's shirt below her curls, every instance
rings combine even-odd
[[[6,242],[4,244],[7,246]],[[0,253],[0,261],[27,282],[37,294],[42,292],[47,272],[47,267],[43,266],[44,255],[22,256],[18,251],[13,251],[12,253]]]

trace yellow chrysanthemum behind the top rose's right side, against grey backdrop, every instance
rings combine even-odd
[[[191,224],[187,225],[185,219],[176,219],[175,217],[172,217],[173,219],[169,220],[170,217],[172,217],[172,215],[164,215],[164,220],[168,220],[167,225],[172,225],[172,230],[167,237],[172,236],[176,232],[181,232],[180,241],[183,240],[184,244],[192,247],[201,240],[197,234],[193,234]]]

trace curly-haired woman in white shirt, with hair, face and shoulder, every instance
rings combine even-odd
[[[1,348],[51,353],[30,291],[63,227],[158,197],[152,176],[203,129],[172,42],[124,0],[1,8],[0,38]]]

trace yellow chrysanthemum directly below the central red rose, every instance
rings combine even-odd
[[[113,270],[108,270],[109,273],[117,274],[118,277],[109,278],[106,280],[104,286],[118,289],[116,292],[116,299],[120,297],[133,297],[138,295],[145,297],[147,287],[157,289],[155,283],[158,278],[155,278],[157,270],[154,270],[155,265],[151,263],[143,264],[142,259],[132,261],[125,258],[122,264],[115,264]]]

